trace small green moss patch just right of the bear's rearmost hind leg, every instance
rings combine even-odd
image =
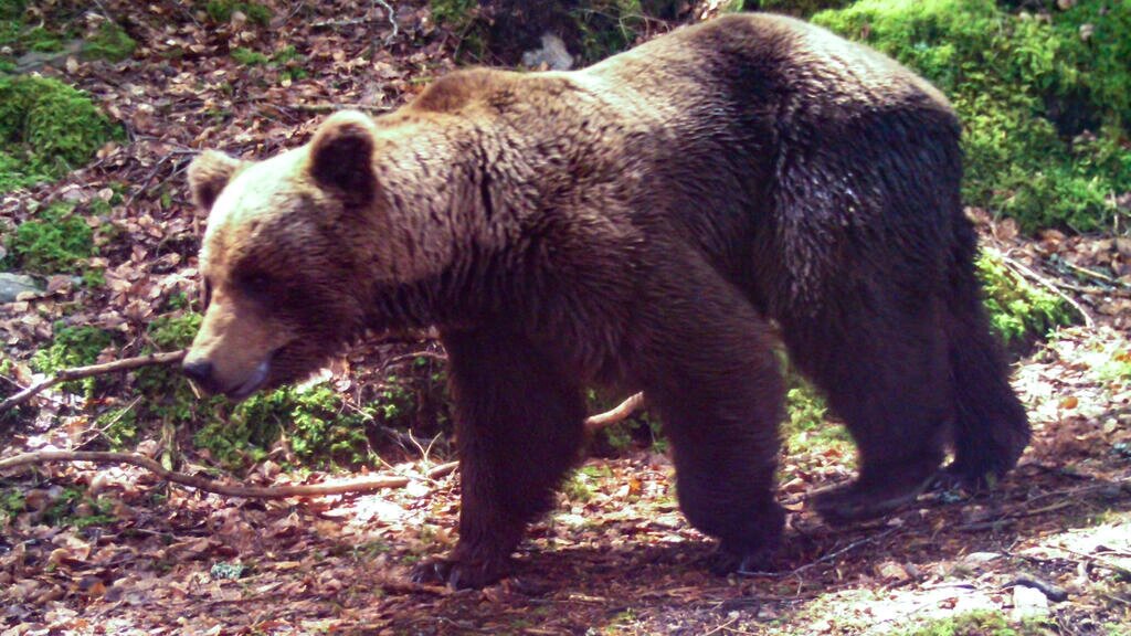
[[[990,324],[1008,349],[1024,349],[1071,324],[1072,310],[1063,299],[1010,269],[996,250],[983,249],[976,265]]]

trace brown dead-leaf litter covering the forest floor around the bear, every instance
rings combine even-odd
[[[254,27],[239,16],[207,25],[187,3],[104,1],[100,10],[124,19],[139,43],[131,60],[33,60],[94,95],[129,135],[60,182],[0,196],[0,221],[14,225],[51,201],[124,196],[98,221],[114,229],[97,257],[105,286],[57,276],[42,294],[0,306],[16,369],[0,379],[0,396],[31,381],[25,362],[55,320],[133,334],[120,352],[128,355],[159,299],[196,293],[204,217],[188,200],[184,170],[199,149],[267,156],[308,139],[319,113],[387,111],[455,67],[454,44],[426,8],[398,3],[390,20],[381,5],[295,2]],[[282,54],[287,46],[299,55]],[[238,62],[236,48],[268,61]],[[457,592],[408,578],[456,538],[459,478],[429,478],[443,458],[428,453],[389,459],[382,473],[411,478],[404,488],[277,501],[170,485],[132,466],[50,464],[0,475],[26,506],[0,535],[0,635],[1005,636],[1007,625],[1017,634],[1131,634],[1129,244],[1026,238],[982,217],[986,241],[1089,316],[1016,362],[1034,440],[990,492],[931,491],[882,522],[832,528],[805,495],[849,479],[851,446],[793,436],[780,470],[789,515],[778,571],[722,578],[707,573],[710,541],[675,506],[670,458],[636,448],[582,464],[530,530],[512,577]],[[1116,264],[1122,282],[1097,274]],[[0,428],[3,455],[90,439],[90,421],[64,399],[48,393],[26,421]],[[181,470],[215,474],[206,458],[187,456]],[[245,481],[329,479],[268,459]],[[95,521],[53,522],[54,502],[76,484]]]

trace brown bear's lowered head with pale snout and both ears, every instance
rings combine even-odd
[[[205,316],[183,370],[199,387],[242,399],[301,380],[363,328],[354,246],[377,195],[374,141],[372,120],[343,112],[266,161],[192,162]]]

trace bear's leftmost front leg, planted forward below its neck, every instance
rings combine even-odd
[[[521,335],[480,329],[442,340],[456,405],[459,543],[413,578],[483,587],[506,576],[526,525],[549,509],[577,459],[585,402],[577,380]]]

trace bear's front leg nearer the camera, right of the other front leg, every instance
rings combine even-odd
[[[774,495],[780,372],[753,307],[689,260],[645,295],[636,372],[672,442],[680,508],[720,540],[711,569],[762,570],[785,523]]]

